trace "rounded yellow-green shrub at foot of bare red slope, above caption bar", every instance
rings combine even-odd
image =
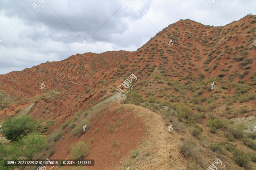
[[[82,160],[86,156],[90,149],[90,143],[85,141],[79,141],[77,144],[71,146],[71,158],[74,160]]]

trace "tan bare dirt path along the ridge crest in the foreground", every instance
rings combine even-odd
[[[144,107],[135,106],[135,111],[143,117],[145,127],[148,128],[148,133],[144,130],[143,143],[140,145],[139,156],[131,158],[131,153],[127,153],[127,158],[131,158],[132,163],[130,170],[136,169],[158,169],[158,170],[185,170],[186,165],[179,152],[179,143],[181,143],[180,135],[175,129],[168,132],[168,126],[165,125],[165,120],[156,112],[150,111]],[[169,126],[171,123],[169,124]],[[183,135],[187,135],[183,133]],[[186,138],[186,137],[184,137]],[[124,166],[119,166],[116,169],[125,169]]]

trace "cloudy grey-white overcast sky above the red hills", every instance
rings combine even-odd
[[[136,51],[181,19],[222,26],[255,7],[253,0],[0,0],[0,74],[78,53]]]

